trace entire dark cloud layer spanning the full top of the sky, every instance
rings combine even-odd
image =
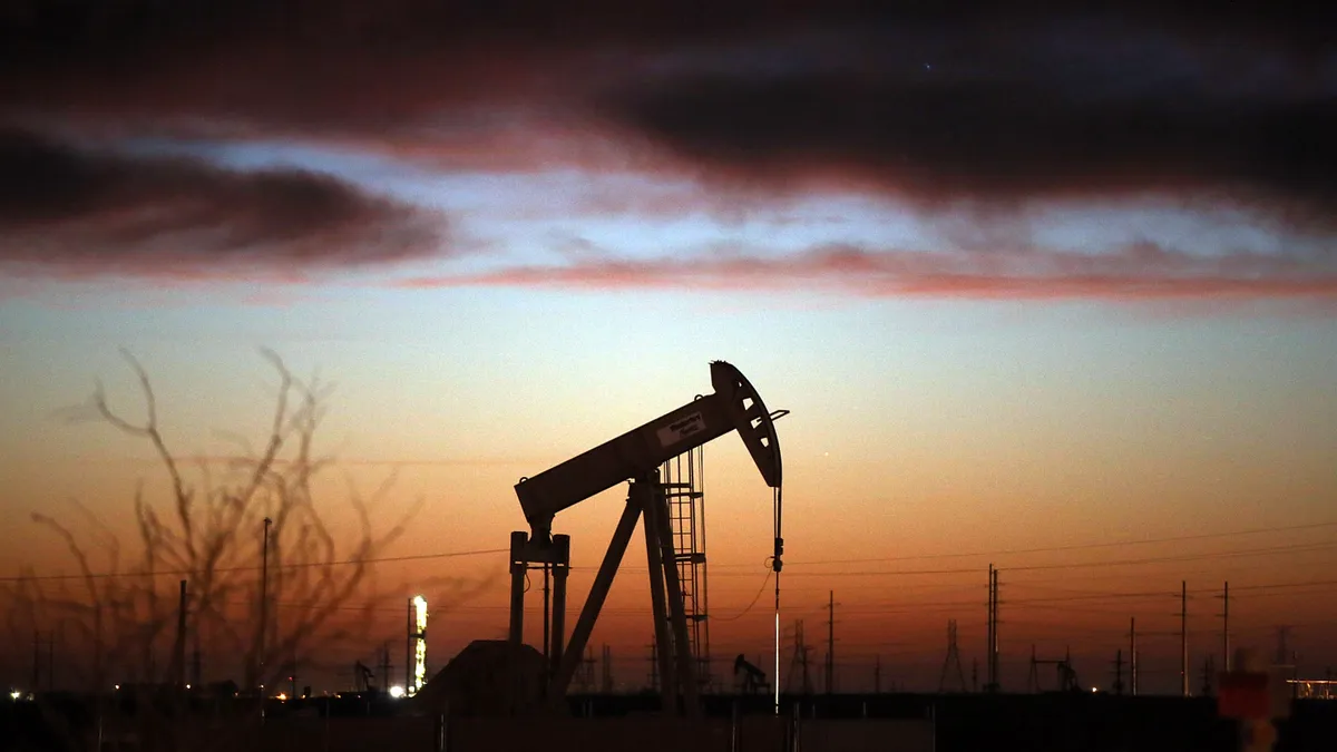
[[[925,205],[1193,195],[1330,231],[1337,9],[856,0],[8,3],[0,119],[681,169]],[[588,151],[594,134],[667,163]],[[556,135],[555,135],[556,134]],[[556,143],[554,143],[556,142]],[[475,157],[476,157],[475,155]]]

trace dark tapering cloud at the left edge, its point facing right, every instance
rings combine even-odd
[[[440,249],[437,219],[328,175],[239,173],[0,131],[0,268],[299,278]]]

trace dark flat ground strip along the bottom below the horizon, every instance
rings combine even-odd
[[[189,713],[104,709],[103,749],[247,752],[1227,752],[1234,724],[1211,698],[1110,694],[870,694],[785,698],[710,696],[699,723],[664,719],[655,696],[575,696],[571,717],[449,719],[406,704],[342,697],[258,707],[197,702]],[[326,713],[328,708],[328,713]],[[797,719],[796,719],[797,716]],[[78,700],[5,704],[0,748],[96,749],[96,713]],[[1337,748],[1337,702],[1296,701],[1278,752]]]

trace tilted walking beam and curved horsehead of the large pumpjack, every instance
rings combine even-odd
[[[552,518],[618,483],[640,478],[689,450],[738,431],[766,484],[781,484],[779,443],[774,420],[757,389],[733,365],[710,364],[715,392],[679,407],[606,442],[579,456],[524,478],[515,486],[520,508],[529,522],[531,539],[544,545],[552,539]],[[778,546],[777,546],[778,547]]]

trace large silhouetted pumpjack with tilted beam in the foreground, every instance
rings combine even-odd
[[[714,392],[662,415],[582,455],[571,458],[533,478],[521,478],[515,486],[520,508],[529,523],[528,531],[511,534],[511,648],[519,650],[524,634],[524,593],[529,569],[541,567],[552,578],[552,603],[544,602],[543,654],[547,662],[545,698],[552,708],[564,702],[567,688],[580,665],[586,644],[594,630],[599,610],[612,586],[614,575],[631,542],[636,522],[643,521],[646,558],[650,565],[651,607],[655,620],[659,682],[663,708],[673,712],[682,700],[689,716],[699,713],[695,661],[687,636],[678,567],[674,563],[674,541],[664,488],[658,468],[668,459],[738,432],[762,479],[774,490],[774,554],[771,570],[781,570],[781,458],[775,438],[775,420],[789,411],[766,409],[757,389],[733,365],[710,364]],[[618,527],[608,543],[603,563],[595,575],[590,595],[580,610],[571,640],[566,641],[567,575],[571,561],[571,538],[552,533],[554,518],[580,502],[630,482],[627,502]],[[547,589],[544,590],[547,594]],[[778,593],[778,590],[777,590]],[[778,595],[777,595],[778,598]]]

